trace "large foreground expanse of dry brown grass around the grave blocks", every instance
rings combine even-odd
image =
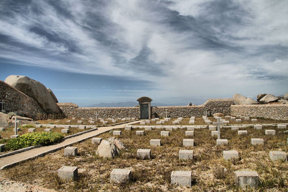
[[[191,170],[192,187],[189,191],[238,191],[240,189],[234,186],[234,172],[255,170],[260,176],[259,189],[262,191],[285,191],[288,188],[288,163],[269,160],[270,150],[287,153],[288,133],[283,130],[275,129],[276,135],[271,136],[265,135],[265,130],[248,127],[248,135],[238,135],[237,131],[223,128],[221,138],[228,139],[226,146],[216,146],[216,138],[211,136],[208,129],[196,129],[194,136],[190,137],[185,137],[185,130],[177,129],[171,131],[168,138],[160,136],[161,130],[145,131],[145,136],[136,135],[136,130],[139,129],[122,131],[122,135],[116,136],[127,150],[122,150],[115,159],[97,157],[97,145],[93,145],[89,139],[74,145],[78,147],[77,157],[64,157],[62,149],[3,170],[0,176],[57,191],[183,191],[185,188],[170,184],[171,171]],[[100,135],[103,139],[111,136],[111,133]],[[157,138],[162,139],[163,145],[150,146],[149,140]],[[184,149],[183,138],[194,138],[194,146],[185,148],[194,150],[191,161],[178,159],[179,149]],[[264,145],[252,146],[251,138],[263,138]],[[152,159],[138,160],[138,148],[151,149]],[[223,150],[237,150],[240,158],[224,161]],[[59,180],[57,170],[63,165],[77,166],[79,179],[74,182]],[[124,185],[111,184],[109,177],[114,168],[131,169],[132,181]]]

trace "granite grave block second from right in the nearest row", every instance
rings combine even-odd
[[[191,187],[191,171],[172,171],[171,184]]]

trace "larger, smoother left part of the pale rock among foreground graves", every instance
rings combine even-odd
[[[107,140],[102,140],[96,151],[96,155],[106,158],[114,158],[119,153],[119,149],[113,143]]]

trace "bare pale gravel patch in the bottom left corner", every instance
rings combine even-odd
[[[13,192],[13,191],[25,191],[25,192],[55,192],[53,189],[46,189],[42,187],[37,187],[34,185],[29,185],[22,182],[13,181],[6,178],[0,178],[0,191],[2,192]]]

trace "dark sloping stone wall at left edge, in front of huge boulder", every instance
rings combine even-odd
[[[44,113],[33,98],[18,91],[4,81],[0,81],[0,100],[2,99],[5,102],[3,109],[6,112],[16,112],[20,116],[30,118],[34,118],[37,113]]]

